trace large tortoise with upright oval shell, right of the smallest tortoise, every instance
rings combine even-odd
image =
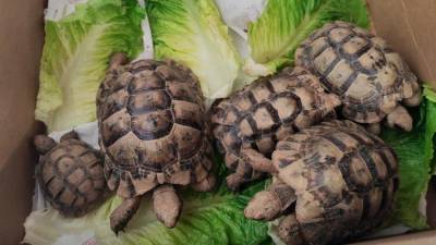
[[[112,56],[97,95],[99,144],[110,189],[123,198],[110,225],[123,230],[153,191],[157,219],[173,228],[182,201],[174,185],[210,191],[211,145],[198,79],[171,60],[128,63]]]

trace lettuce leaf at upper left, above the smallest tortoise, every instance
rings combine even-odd
[[[36,119],[49,132],[96,120],[95,97],[109,57],[142,50],[144,10],[135,0],[90,0],[46,22]]]

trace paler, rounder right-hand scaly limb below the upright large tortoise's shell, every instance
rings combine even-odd
[[[172,185],[164,184],[156,187],[153,193],[153,210],[167,228],[175,226],[182,210],[182,200]]]

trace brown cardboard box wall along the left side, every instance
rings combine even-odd
[[[32,206],[31,138],[43,45],[43,0],[0,1],[0,244],[17,244]]]

